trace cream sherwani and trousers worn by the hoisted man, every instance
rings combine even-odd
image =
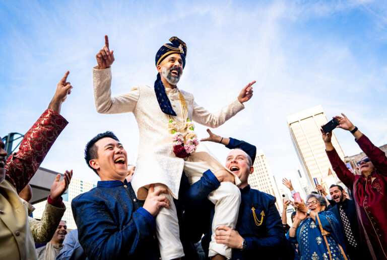
[[[103,114],[132,112],[135,115],[140,132],[140,143],[136,170],[131,183],[139,199],[146,199],[147,188],[149,188],[150,184],[165,185],[171,195],[167,196],[167,198],[170,201],[173,200],[172,196],[177,199],[183,169],[190,184],[197,182],[203,172],[208,169],[213,171],[226,169],[202,143],[199,143],[197,151],[185,158],[185,160],[176,157],[173,152],[172,135],[168,131],[169,116],[161,111],[153,87],[139,85],[135,86],[127,94],[112,97],[110,90],[110,67],[106,69],[93,68],[93,85],[97,112]],[[178,90],[166,89],[166,92],[172,108],[177,114],[173,119],[181,127],[178,131],[185,135],[186,129],[182,127],[185,118],[182,115]],[[180,93],[184,95],[188,108],[187,117],[192,121],[212,128],[222,125],[244,108],[236,99],[219,112],[210,113],[195,102],[192,94],[182,90],[180,90]],[[236,176],[235,183],[236,185],[240,184]],[[214,219],[219,220],[213,221],[214,234],[216,227],[219,225],[227,225],[231,228],[235,228],[236,225],[240,193],[235,185],[230,184],[221,183],[221,186],[212,193],[213,195],[211,196],[210,194],[209,196],[209,200],[215,204]],[[227,196],[229,197],[228,199],[226,198]],[[220,205],[221,201],[223,201],[223,205]],[[156,218],[160,253],[161,257],[165,259],[177,258],[183,255],[173,253],[177,250],[175,245],[181,245],[181,243],[178,239],[176,209],[174,204],[171,204],[169,210],[161,209]],[[219,207],[218,211],[217,207]],[[217,212],[219,216],[217,216]],[[221,215],[221,212],[223,215]],[[160,233],[163,235],[159,236]],[[212,245],[210,244],[210,249],[213,249],[213,254],[221,253],[231,257],[230,248],[225,252],[227,248],[225,245],[219,245],[215,242]],[[169,252],[164,253],[165,250]]]

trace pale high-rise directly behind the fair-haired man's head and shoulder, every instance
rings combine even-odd
[[[257,150],[254,160],[254,172],[248,177],[251,189],[256,189],[276,197],[277,209],[282,212],[282,196],[278,191],[276,180],[274,179],[269,161],[263,150]]]

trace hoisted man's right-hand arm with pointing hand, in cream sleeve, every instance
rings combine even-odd
[[[252,97],[252,84],[255,81],[248,83],[240,92],[237,99],[235,99],[228,106],[223,107],[216,113],[210,113],[202,106],[199,106],[195,101],[193,102],[192,120],[199,124],[216,128],[223,125],[231,117],[235,116],[244,108],[243,103],[250,100]]]

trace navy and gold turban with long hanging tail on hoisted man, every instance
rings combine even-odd
[[[155,63],[156,67],[160,65],[160,62],[163,61],[168,55],[177,53],[180,54],[181,59],[183,60],[183,68],[185,66],[185,57],[187,56],[187,46],[185,43],[177,37],[172,37],[169,39],[171,43],[166,43],[160,47],[156,53]],[[167,115],[176,116],[176,112],[173,111],[171,102],[168,99],[168,96],[165,92],[165,87],[161,81],[160,73],[157,73],[157,79],[155,81],[155,93],[156,98],[159,103],[160,109]]]

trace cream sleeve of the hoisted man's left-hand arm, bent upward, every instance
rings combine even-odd
[[[140,89],[135,87],[131,92],[111,96],[111,67],[93,68],[94,104],[98,113],[118,114],[133,112],[140,98]]]

